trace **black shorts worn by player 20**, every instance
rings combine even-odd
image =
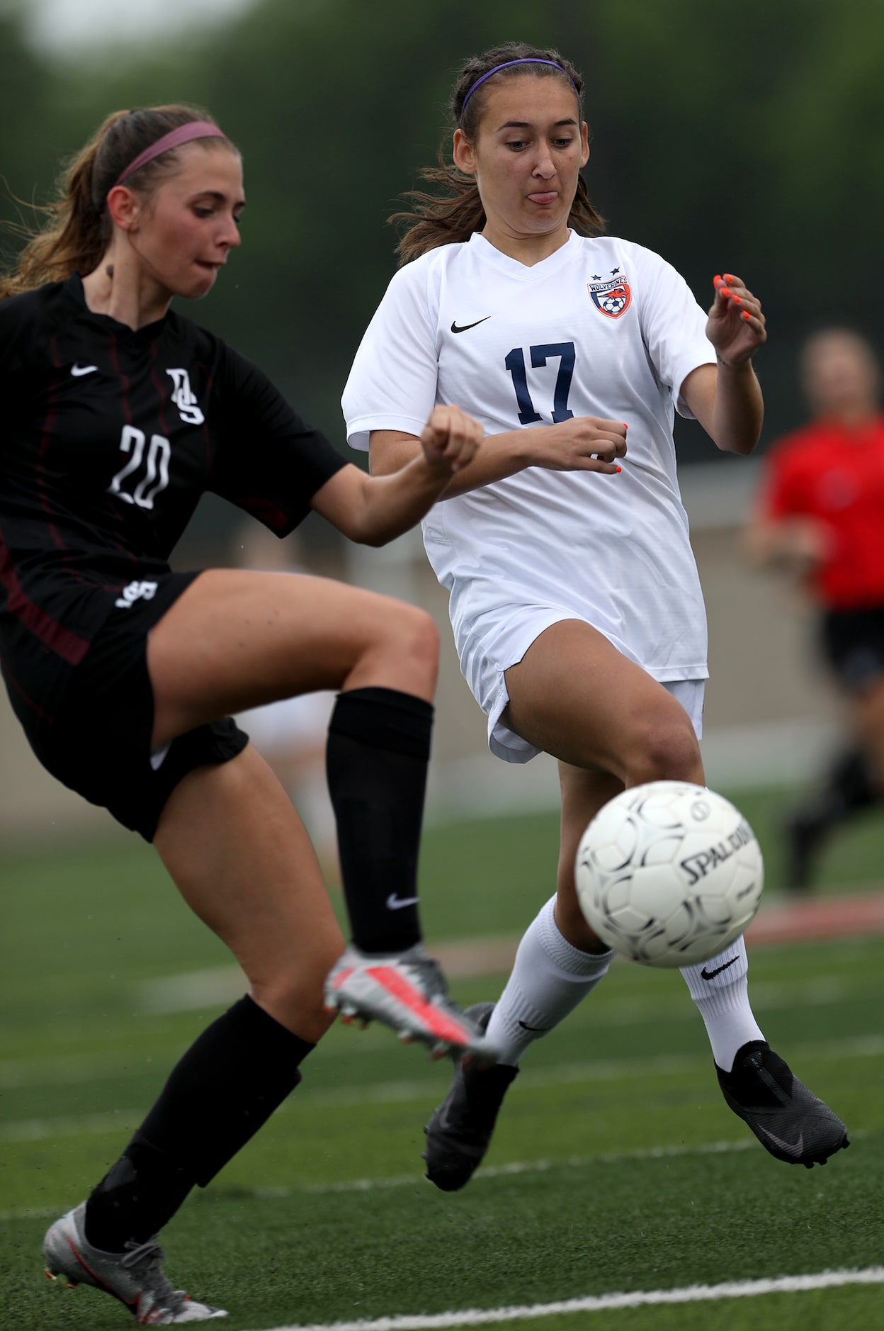
[[[249,743],[227,716],[178,736],[162,761],[161,755],[152,761],[148,634],[198,576],[167,574],[156,580],[149,600],[114,611],[73,671],[55,723],[39,737],[28,733],[53,776],[146,841],[153,841],[164,805],[187,772],[227,763]]]

